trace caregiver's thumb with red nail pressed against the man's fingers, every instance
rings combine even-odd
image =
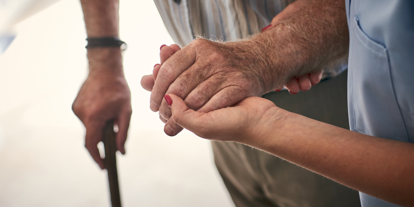
[[[164,99],[171,107],[171,117],[173,118],[173,121],[182,128],[194,132],[193,130],[197,129],[197,126],[200,123],[199,118],[202,113],[188,108],[183,99],[174,94],[167,94],[164,96]]]

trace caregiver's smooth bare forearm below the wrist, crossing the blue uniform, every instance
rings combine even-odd
[[[286,114],[265,126],[267,130],[257,136],[262,141],[255,139],[246,144],[368,195],[403,206],[414,205],[414,144]]]

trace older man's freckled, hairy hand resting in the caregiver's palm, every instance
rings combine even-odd
[[[243,43],[224,44],[197,39],[154,67],[155,80],[151,93],[150,108],[159,111],[164,122],[171,117],[171,110],[163,101],[165,94],[176,94],[193,110],[213,111],[232,106],[249,96],[261,96],[269,91],[265,85],[265,61],[254,57],[252,48]],[[159,71],[157,71],[157,69]],[[270,77],[269,77],[270,78]],[[150,88],[149,77],[143,77],[142,86]],[[164,128],[173,136],[181,127],[168,121]]]

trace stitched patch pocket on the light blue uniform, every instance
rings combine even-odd
[[[387,48],[363,32],[357,16],[350,22],[350,128],[367,135],[407,141],[395,99]]]

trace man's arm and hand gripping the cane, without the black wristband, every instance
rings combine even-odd
[[[88,37],[118,37],[118,0],[81,0]],[[101,168],[105,168],[96,145],[106,122],[118,125],[117,149],[125,153],[132,113],[130,90],[125,80],[121,49],[88,48],[89,75],[72,109],[86,128],[85,146]]]

